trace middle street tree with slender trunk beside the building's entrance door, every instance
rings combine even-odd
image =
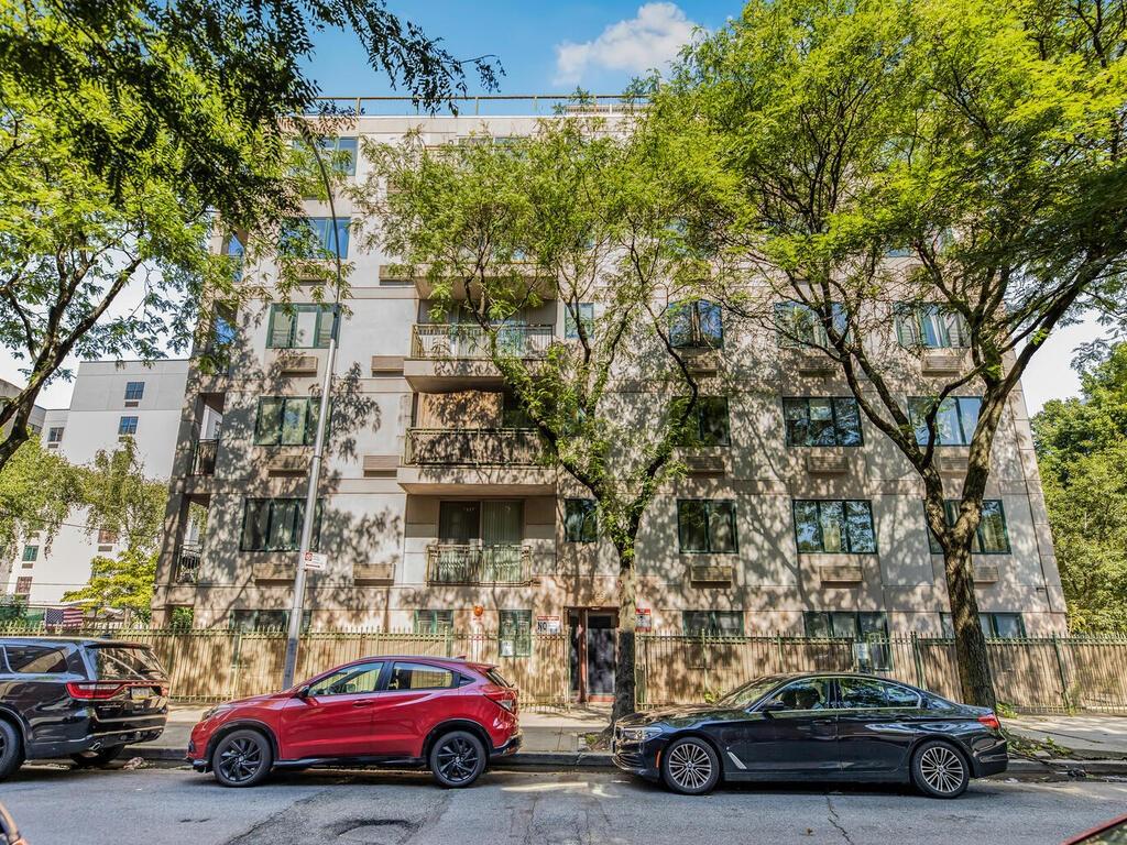
[[[669,151],[639,144],[630,123],[571,116],[527,139],[372,144],[354,206],[373,244],[431,287],[431,319],[452,338],[471,327],[561,483],[594,500],[618,561],[615,717],[636,706],[639,527],[696,430],[692,356],[708,349],[690,347],[720,332],[718,309],[696,302],[707,266],[664,178]],[[545,303],[567,330],[541,344],[525,323]]]

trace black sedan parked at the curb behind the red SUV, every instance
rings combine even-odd
[[[859,674],[774,675],[614,726],[614,763],[689,795],[728,781],[913,783],[934,798],[1009,764],[997,717]]]

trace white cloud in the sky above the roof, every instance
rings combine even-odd
[[[556,45],[556,83],[576,84],[591,69],[642,73],[675,59],[695,24],[674,3],[650,2],[629,20],[607,26],[594,41]]]

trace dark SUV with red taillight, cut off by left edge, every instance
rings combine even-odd
[[[25,759],[104,765],[167,719],[168,676],[148,646],[0,638],[0,779]]]

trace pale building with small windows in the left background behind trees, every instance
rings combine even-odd
[[[169,478],[188,371],[184,359],[81,362],[70,407],[43,415],[44,448],[86,464],[130,437],[144,473]],[[9,563],[6,592],[25,597],[32,608],[57,606],[68,590],[87,582],[94,558],[119,551],[116,536],[82,527],[85,509],[72,512],[65,522],[50,541],[41,533],[24,537]]]

